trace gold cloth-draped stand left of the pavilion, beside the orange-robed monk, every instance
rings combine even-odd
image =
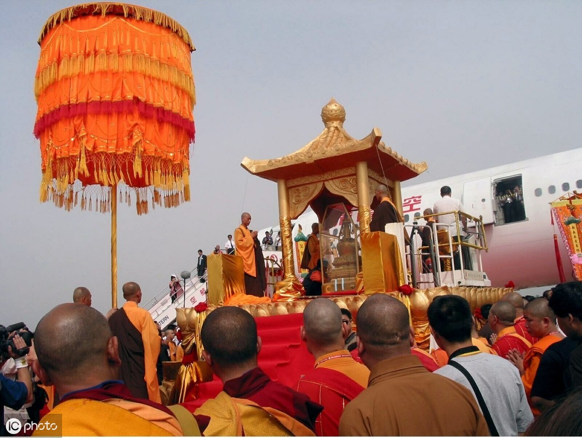
[[[222,305],[232,296],[244,294],[243,257],[211,254],[208,262],[208,303]]]

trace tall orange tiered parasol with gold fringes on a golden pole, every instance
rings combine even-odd
[[[118,186],[119,202],[122,188],[129,205],[133,192],[138,214],[148,212],[150,200],[152,208],[190,200],[195,49],[175,20],[122,3],[63,9],[47,20],[38,43],[40,200],[111,211],[115,306]]]

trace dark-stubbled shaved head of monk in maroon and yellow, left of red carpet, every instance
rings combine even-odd
[[[222,368],[257,361],[257,324],[246,310],[233,306],[212,310],[200,337],[212,361]]]

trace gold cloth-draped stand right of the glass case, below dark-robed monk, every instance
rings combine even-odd
[[[396,236],[381,231],[360,234],[364,293],[398,290],[406,283]]]

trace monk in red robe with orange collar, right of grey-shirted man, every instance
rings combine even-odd
[[[487,320],[491,330],[494,331],[494,334],[491,335],[491,339],[494,340],[491,348],[502,358],[507,359],[508,353],[514,348],[521,354],[531,347],[531,342],[517,334],[513,327],[515,308],[512,303],[496,302],[491,306]]]

